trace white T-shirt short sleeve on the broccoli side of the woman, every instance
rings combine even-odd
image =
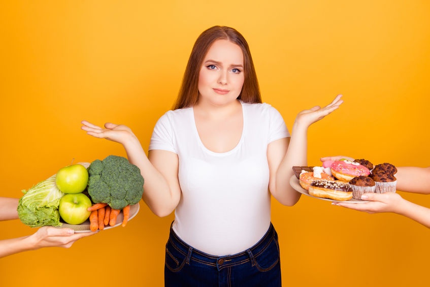
[[[153,149],[177,153],[174,145],[173,126],[168,113],[162,115],[155,124],[148,150]]]

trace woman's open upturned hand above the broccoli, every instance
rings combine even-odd
[[[88,135],[99,139],[107,139],[124,145],[130,139],[136,139],[131,129],[123,124],[105,123],[105,128],[92,124],[86,120],[81,121],[81,129]]]

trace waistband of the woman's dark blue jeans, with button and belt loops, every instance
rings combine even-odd
[[[242,252],[226,256],[215,256],[193,248],[182,241],[182,239],[180,239],[173,231],[172,227],[170,228],[169,241],[184,254],[187,254],[187,263],[190,261],[196,261],[221,269],[228,266],[244,264],[250,261],[254,264],[254,262],[252,262],[253,258],[258,257],[258,255],[267,248],[275,237],[275,234],[276,231],[271,222],[266,234],[264,234],[264,236],[255,245]]]

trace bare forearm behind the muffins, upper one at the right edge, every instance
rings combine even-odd
[[[403,192],[430,194],[430,167],[398,167],[397,189]]]

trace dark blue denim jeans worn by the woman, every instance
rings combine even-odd
[[[166,244],[164,286],[281,286],[278,234],[270,224],[254,246],[229,256],[194,249],[170,229]]]

